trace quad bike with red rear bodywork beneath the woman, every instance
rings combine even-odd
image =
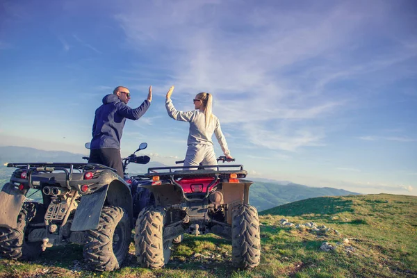
[[[218,161],[229,160],[220,156]],[[145,177],[151,181],[141,186],[152,193],[155,204],[144,208],[136,220],[138,263],[161,268],[170,260],[173,241],[182,234],[213,233],[231,240],[237,268],[259,265],[258,212],[248,204],[252,181],[243,179],[246,175],[243,165],[149,168]]]

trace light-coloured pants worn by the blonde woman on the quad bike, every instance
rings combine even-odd
[[[188,145],[184,166],[197,166],[199,163],[202,163],[202,165],[218,165],[213,145]],[[197,168],[191,168],[190,170],[197,170]]]

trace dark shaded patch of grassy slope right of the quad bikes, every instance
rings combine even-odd
[[[293,202],[290,204],[283,204],[275,208],[270,208],[261,211],[259,215],[286,215],[286,216],[301,216],[309,214],[336,214],[342,212],[353,212],[352,200],[342,199],[341,197],[318,197],[311,199],[304,199],[302,201]],[[311,218],[313,219],[313,217]]]

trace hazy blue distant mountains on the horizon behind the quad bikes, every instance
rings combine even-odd
[[[139,154],[139,153],[138,153]],[[71,152],[43,151],[30,147],[0,147],[0,163],[10,162],[86,162],[83,160],[85,154],[74,154]],[[163,167],[163,163],[151,161],[146,165],[131,163],[127,172],[140,174],[147,172],[148,167]],[[0,167],[0,186],[3,186],[14,168]],[[259,211],[267,208],[287,204],[302,199],[322,196],[359,195],[343,189],[316,188],[292,183],[291,181],[275,181],[272,179],[250,178],[254,184],[250,187],[250,204]]]

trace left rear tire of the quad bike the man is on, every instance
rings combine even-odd
[[[25,202],[19,215],[17,215],[16,229],[0,227],[0,256],[7,259],[35,259],[42,252],[41,242],[29,243],[27,236],[31,229],[28,224],[38,213],[39,219],[43,219],[42,204]]]

